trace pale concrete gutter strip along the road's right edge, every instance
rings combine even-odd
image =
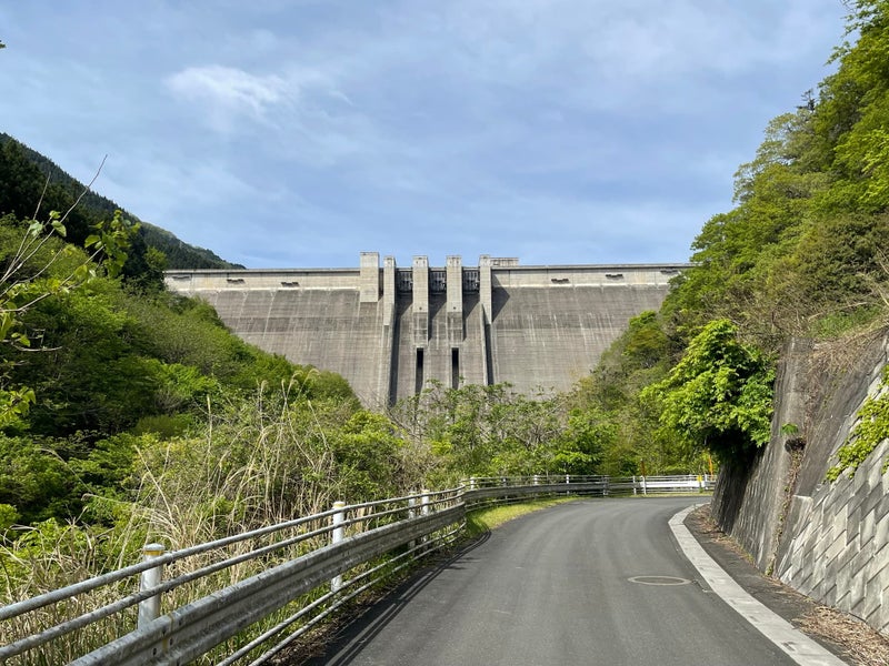
[[[846,662],[833,653],[821,647],[780,615],[755,599],[705,552],[683,524],[686,516],[698,506],[701,505],[689,506],[673,515],[670,518],[670,529],[686,557],[707,581],[710,588],[800,666],[847,666]]]

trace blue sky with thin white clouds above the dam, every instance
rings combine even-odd
[[[8,0],[0,130],[248,268],[681,262],[840,0]]]

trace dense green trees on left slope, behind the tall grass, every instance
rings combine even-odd
[[[10,261],[31,224],[2,219],[0,258]],[[59,287],[83,265],[94,274]],[[214,420],[243,402],[274,408],[286,394],[296,410],[316,401],[319,423],[327,402],[346,421],[361,413],[340,377],[244,344],[201,302],[146,291],[143,281],[134,290],[60,238],[47,238],[20,272],[28,295],[4,301],[6,311],[31,304],[0,347],[0,389],[26,386],[34,398],[27,411],[7,411],[0,503],[26,523],[74,518],[84,494],[119,495],[142,447],[210,437]]]

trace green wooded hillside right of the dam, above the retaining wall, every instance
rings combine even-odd
[[[836,73],[769,123],[736,173],[735,208],[696,238],[696,268],[580,382],[580,404],[621,433],[609,471],[711,454],[743,464],[768,441],[785,341],[838,341],[841,372],[843,356],[886,327],[889,2],[849,7]]]

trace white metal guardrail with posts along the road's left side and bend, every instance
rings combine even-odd
[[[263,664],[381,579],[452,543],[467,508],[566,493],[706,492],[715,481],[470,478],[447,491],[337,503],[320,514],[170,553],[149,544],[139,564],[0,607],[0,663],[180,665],[212,653],[223,666]],[[169,608],[164,615],[161,605]]]

